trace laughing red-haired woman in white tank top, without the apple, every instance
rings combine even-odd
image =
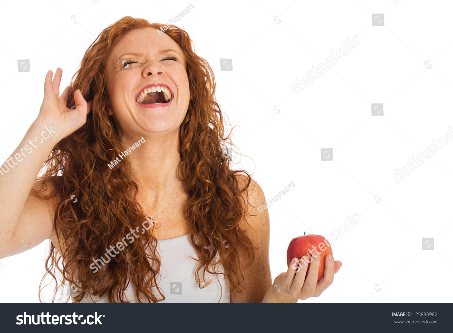
[[[1,169],[0,257],[23,252],[20,240],[27,249],[51,240],[53,301],[66,282],[73,302],[214,301],[213,293],[222,302],[297,302],[332,283],[341,263],[326,260],[319,283],[313,261],[306,280],[307,265],[293,264],[271,285],[269,216],[253,214],[263,191],[229,168],[212,69],[184,30],[126,16],[101,32],[59,98],[62,70],[52,76],[12,154],[29,163]],[[179,257],[192,284],[172,281]],[[206,272],[213,289],[202,285]]]

